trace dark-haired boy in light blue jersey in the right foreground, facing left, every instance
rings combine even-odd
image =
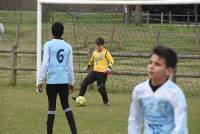
[[[153,49],[147,69],[149,79],[132,93],[128,134],[188,133],[185,96],[170,80],[176,65],[174,50],[162,45]]]

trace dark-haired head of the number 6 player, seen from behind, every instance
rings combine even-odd
[[[54,37],[61,37],[64,32],[64,26],[61,22],[55,22],[51,27],[51,32]]]

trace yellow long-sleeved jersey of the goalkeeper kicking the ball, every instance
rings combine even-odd
[[[114,60],[111,54],[105,48],[103,48],[101,52],[98,52],[97,50],[93,51],[88,65],[94,66],[93,71],[105,72],[109,66],[112,66],[113,63]]]

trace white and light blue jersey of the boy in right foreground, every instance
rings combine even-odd
[[[144,125],[143,125],[144,123]],[[167,80],[155,92],[149,80],[132,93],[128,134],[187,134],[186,100],[182,90]]]

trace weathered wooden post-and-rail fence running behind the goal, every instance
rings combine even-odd
[[[36,54],[36,50],[18,50],[17,45],[11,47],[11,49],[0,49],[0,53],[10,54],[11,63],[10,66],[0,66],[0,70],[10,70],[10,84],[16,85],[17,71],[36,71],[36,67],[17,67],[17,54]],[[74,51],[74,55],[89,56],[91,49],[86,51]],[[125,52],[112,52],[113,57],[133,57],[133,58],[149,58],[150,54],[147,53],[125,53]],[[200,55],[178,55],[179,59],[200,59]],[[87,73],[85,70],[75,69],[75,73]],[[126,71],[113,71],[113,75],[131,75],[131,76],[146,76],[144,72],[126,72]],[[200,74],[197,73],[176,73],[173,80],[176,77],[189,77],[189,78],[200,78]]]

